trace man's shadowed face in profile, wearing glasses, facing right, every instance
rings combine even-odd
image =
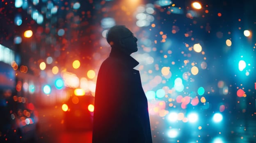
[[[132,54],[138,51],[137,48],[137,38],[133,35],[133,33],[126,29],[125,32],[122,34],[121,38],[121,45],[128,53]]]

